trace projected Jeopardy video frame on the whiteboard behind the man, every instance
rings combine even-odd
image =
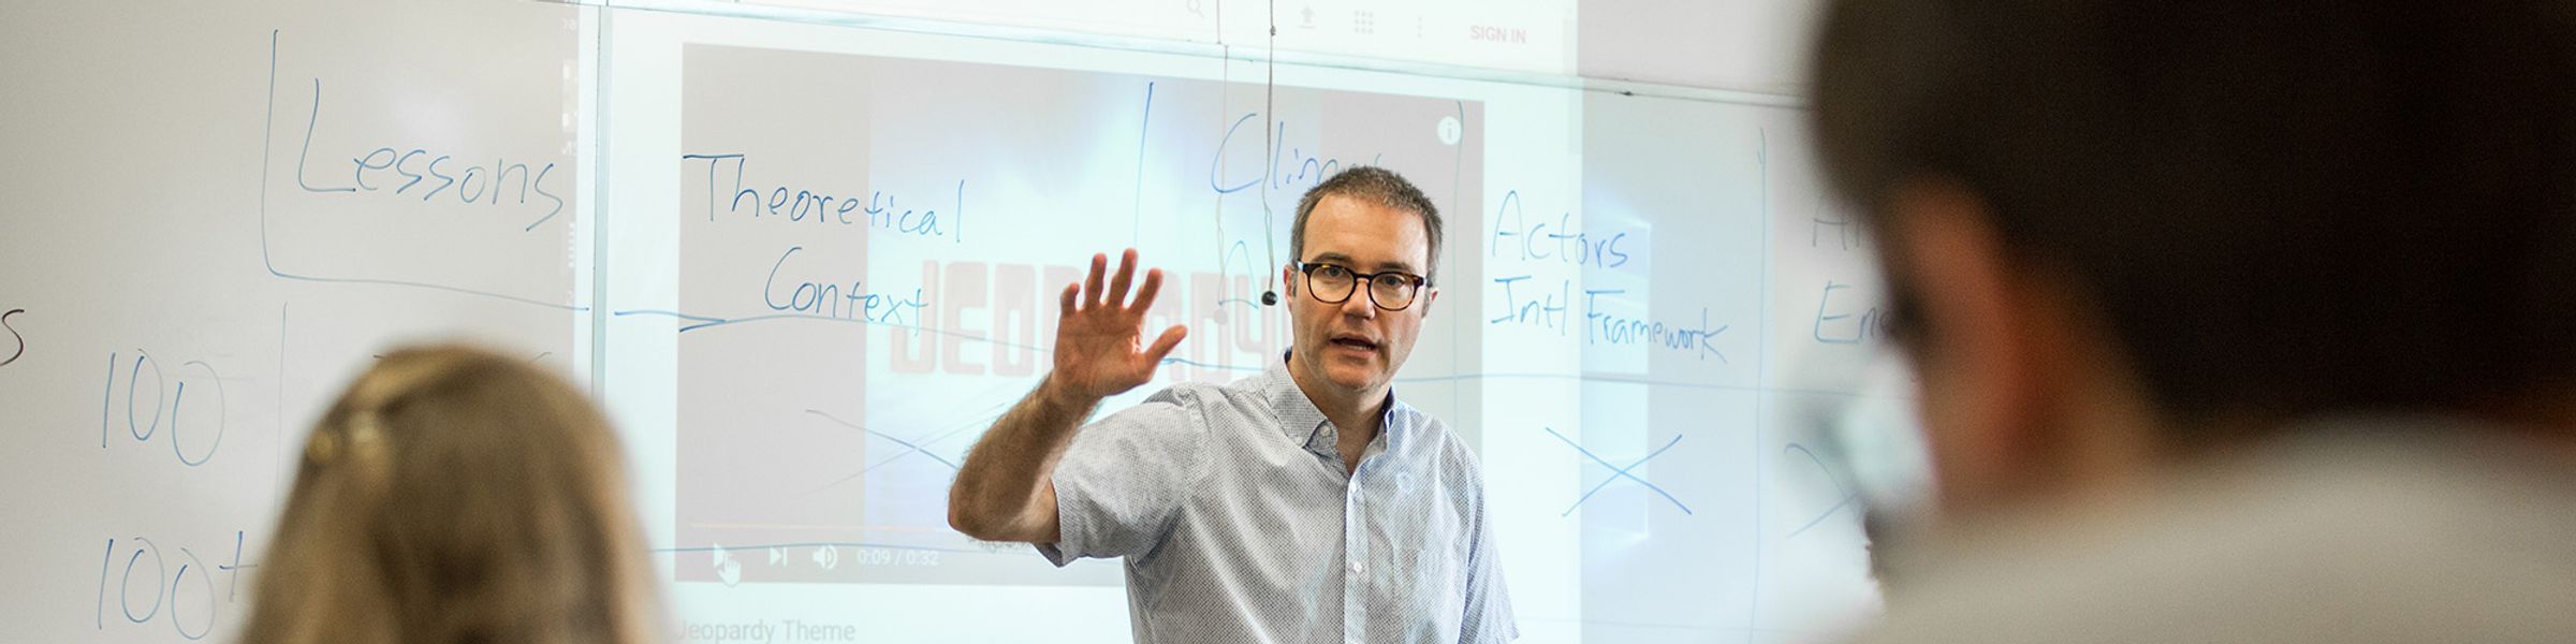
[[[1255,301],[1329,173],[1484,209],[1479,103],[696,44],[683,72],[683,582],[1118,585],[948,528],[1090,255],[1136,247],[1167,276],[1146,325],[1190,327],[1121,410],[1278,361]]]

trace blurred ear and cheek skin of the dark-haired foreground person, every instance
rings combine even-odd
[[[1955,183],[1911,183],[1888,196],[1880,258],[1906,289],[1922,376],[1922,422],[1945,510],[1994,507],[2050,479],[2053,345],[2063,299],[2017,265],[1984,198]]]

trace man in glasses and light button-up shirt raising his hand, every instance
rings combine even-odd
[[[1288,355],[1082,425],[1185,335],[1146,345],[1162,270],[1128,301],[1136,252],[1108,281],[1095,255],[1054,371],[966,456],[948,523],[1059,567],[1126,556],[1136,641],[1510,641],[1476,453],[1391,386],[1440,296],[1440,209],[1350,167],[1306,191],[1288,247]]]

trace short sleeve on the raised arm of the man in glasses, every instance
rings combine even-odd
[[[1206,474],[1206,425],[1177,386],[1084,425],[1051,477],[1059,541],[1038,554],[1056,567],[1151,554]]]

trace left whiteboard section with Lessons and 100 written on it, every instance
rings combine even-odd
[[[0,13],[8,639],[229,641],[309,422],[394,343],[587,366],[592,10]]]

